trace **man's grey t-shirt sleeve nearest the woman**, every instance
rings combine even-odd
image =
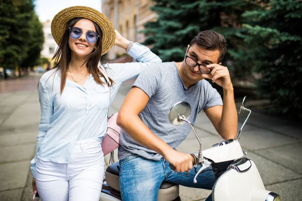
[[[136,78],[133,86],[143,90],[151,98],[161,85],[162,74],[158,64],[149,65]]]

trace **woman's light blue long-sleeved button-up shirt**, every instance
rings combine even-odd
[[[162,60],[138,43],[128,52],[138,62],[107,63],[107,74],[113,79],[109,103],[109,88],[100,85],[90,75],[84,86],[66,79],[60,94],[60,72],[52,69],[42,75],[39,82],[41,121],[37,135],[35,158],[31,171],[35,178],[37,158],[43,161],[68,163],[77,140],[102,140],[107,133],[107,113],[122,82],[136,77],[143,67]],[[104,78],[102,78],[105,81]]]

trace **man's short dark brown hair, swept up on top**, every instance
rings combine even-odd
[[[201,31],[190,42],[190,47],[195,44],[206,50],[219,50],[220,57],[218,62],[223,60],[226,52],[226,40],[221,34],[211,30]]]

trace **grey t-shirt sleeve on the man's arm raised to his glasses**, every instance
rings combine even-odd
[[[203,84],[205,101],[202,110],[206,110],[214,106],[222,106],[222,98],[218,91],[206,80],[203,80]]]

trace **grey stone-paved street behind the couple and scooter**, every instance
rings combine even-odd
[[[34,157],[40,121],[38,80],[39,75],[0,80],[0,201],[32,200],[30,160]],[[119,110],[131,83],[128,81],[121,87],[110,109],[111,114]],[[238,106],[240,102],[241,97],[238,97]],[[248,98],[246,107],[252,105],[253,101]],[[245,115],[240,114],[239,128]],[[222,140],[203,112],[195,127],[203,149]],[[248,151],[246,157],[257,165],[266,189],[280,194],[283,201],[301,200],[301,125],[252,110],[240,142]],[[194,134],[191,133],[177,150],[196,152],[198,142]],[[109,161],[108,157],[106,159]],[[182,200],[205,200],[209,193],[209,190],[180,188]]]

